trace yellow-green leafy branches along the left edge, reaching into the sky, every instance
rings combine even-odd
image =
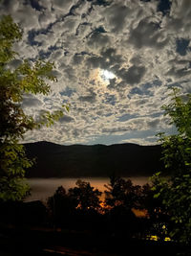
[[[45,111],[34,120],[23,111],[25,94],[47,95],[51,91],[47,81],[56,79],[52,74],[53,63],[49,61],[31,63],[24,59],[18,67],[10,67],[11,61],[18,58],[12,46],[21,38],[21,30],[11,16],[3,16],[0,20],[0,198],[3,200],[20,200],[29,192],[24,176],[32,161],[26,157],[19,140],[26,131],[53,125],[63,115],[63,109]]]

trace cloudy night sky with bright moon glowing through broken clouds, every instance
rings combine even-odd
[[[169,87],[191,92],[190,0],[5,0],[1,14],[23,28],[20,58],[55,63],[52,93],[26,96],[25,111],[71,105],[26,142],[151,145],[174,132],[160,107]]]

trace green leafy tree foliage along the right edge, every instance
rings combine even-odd
[[[173,89],[171,103],[164,105],[177,134],[159,134],[165,172],[154,175],[156,198],[161,198],[173,221],[170,235],[189,243],[191,234],[191,95]],[[165,178],[162,175],[168,175]]]

